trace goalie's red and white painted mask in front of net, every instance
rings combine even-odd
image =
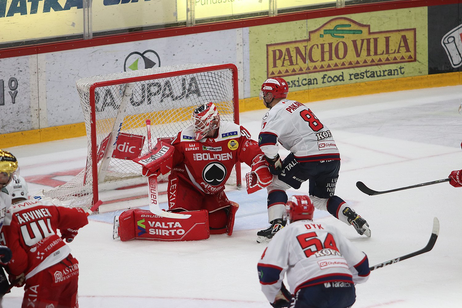
[[[218,128],[220,125],[220,116],[218,109],[213,103],[205,103],[194,109],[191,116],[193,122],[194,139],[201,140]]]

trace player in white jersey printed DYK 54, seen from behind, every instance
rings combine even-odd
[[[354,284],[369,278],[365,253],[324,222],[313,221],[310,198],[287,202],[290,224],[278,231],[261,256],[261,290],[273,307],[346,308],[356,299]],[[286,290],[287,283],[292,294]]]

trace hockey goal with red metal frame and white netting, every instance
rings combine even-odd
[[[233,64],[162,66],[94,76],[77,80],[77,90],[88,139],[85,169],[67,183],[38,194],[64,206],[93,211],[101,204],[98,191],[103,186],[114,189],[147,182],[141,179],[141,165],[114,154],[128,151],[125,141],[117,141],[122,135],[124,140],[146,136],[146,119],[151,120],[154,144],[156,139],[176,137],[190,124],[195,107],[203,103],[213,102],[221,120],[239,124]],[[142,140],[138,150],[146,153],[147,139]],[[234,169],[231,181],[241,186],[240,164]]]

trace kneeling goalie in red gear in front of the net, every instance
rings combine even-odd
[[[225,183],[234,165],[241,162],[252,167],[247,179],[249,193],[269,185],[273,176],[261,158],[263,153],[258,142],[250,139],[244,127],[220,121],[215,104],[205,103],[195,108],[191,121],[191,125],[179,132],[171,142],[174,148],[172,157],[156,152],[156,159],[149,161],[149,166],[144,164],[144,167],[149,168],[151,173],[163,173],[160,171],[162,167],[170,165],[169,211],[193,215],[196,223],[204,223],[206,219],[204,226],[208,224],[210,234],[231,235],[238,205],[227,198]],[[134,161],[143,164],[140,159]],[[201,212],[204,210],[207,214],[205,217]],[[116,217],[114,238],[120,236],[122,241],[132,238],[184,241],[208,237],[207,234],[202,238],[193,236],[185,239],[180,234],[174,239],[173,236],[178,235],[178,231],[183,232],[184,228],[175,229],[173,226],[178,223],[183,227],[182,223],[186,223],[187,219],[161,218],[160,215],[139,209],[128,211]],[[168,223],[170,227],[167,227]],[[159,238],[159,232],[165,236]]]

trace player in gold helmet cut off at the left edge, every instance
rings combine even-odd
[[[3,225],[3,220],[5,218],[6,210],[11,205],[11,197],[6,190],[6,185],[8,185],[13,176],[18,170],[18,160],[14,155],[8,151],[0,150],[0,230]],[[10,248],[0,243],[0,263],[5,264],[11,260],[12,253]],[[3,267],[0,267],[0,307],[1,307],[1,297],[6,293],[9,288],[8,279],[6,278]]]

